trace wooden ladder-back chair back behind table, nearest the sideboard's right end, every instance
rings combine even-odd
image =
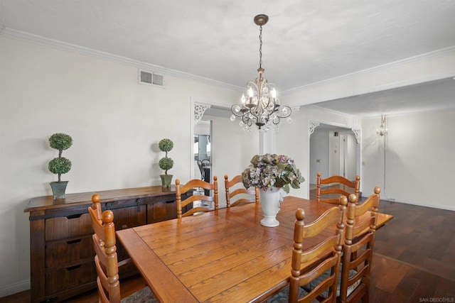
[[[200,189],[213,190],[213,196],[207,196],[205,194],[193,194],[188,198],[182,200],[182,194],[186,194],[189,190],[198,187]],[[208,202],[209,206],[200,206],[193,207],[185,213],[182,213],[183,207],[187,206],[192,202]],[[181,185],[180,180],[176,180],[176,202],[177,202],[177,218],[182,218],[183,216],[191,216],[193,214],[199,213],[201,211],[212,211],[218,209],[218,177],[213,176],[213,183],[205,182],[199,179],[193,179],[186,184]],[[214,204],[212,207],[211,204]]]

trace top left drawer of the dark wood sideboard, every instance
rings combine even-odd
[[[75,214],[45,219],[45,241],[59,240],[93,233],[88,211],[86,214]]]

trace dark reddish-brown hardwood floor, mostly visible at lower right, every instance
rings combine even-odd
[[[370,302],[455,302],[455,211],[381,200],[380,212],[394,219],[376,233]],[[0,302],[30,302],[30,292]],[[97,293],[69,302],[95,303]]]

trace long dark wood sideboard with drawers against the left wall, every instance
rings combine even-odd
[[[31,301],[61,302],[96,288],[92,226],[87,208],[92,195],[100,194],[102,209],[114,212],[117,230],[177,217],[175,186],[115,189],[66,194],[30,200]],[[127,254],[117,242],[119,260]],[[136,272],[134,266],[119,272],[121,277]]]

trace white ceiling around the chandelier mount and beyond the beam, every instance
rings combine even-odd
[[[454,0],[0,0],[0,31],[245,87],[258,13],[264,77],[282,91],[455,45]],[[317,105],[372,116],[455,107],[454,96],[448,78]]]

